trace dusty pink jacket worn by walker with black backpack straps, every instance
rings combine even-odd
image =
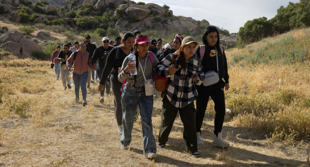
[[[80,50],[77,50],[77,52],[78,52],[77,57],[74,59],[74,63],[73,63],[73,67],[74,67],[73,72],[82,74],[88,70],[88,66],[92,69],[93,64],[91,63],[91,59],[88,60],[88,56],[89,56],[88,52],[85,51],[84,54],[82,54]],[[70,55],[70,57],[67,60],[68,68],[71,67],[71,62],[73,61],[73,57],[74,57],[74,52]]]

